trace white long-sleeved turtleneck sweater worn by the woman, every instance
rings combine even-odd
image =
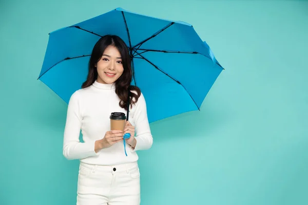
[[[136,105],[130,109],[128,119],[135,128],[136,147],[133,149],[126,143],[126,156],[123,141],[120,141],[95,153],[95,140],[104,138],[110,130],[110,114],[123,112],[126,115],[119,102],[120,98],[115,93],[113,84],[101,84],[97,81],[71,95],[63,141],[63,155],[67,159],[80,159],[93,165],[119,165],[137,161],[136,151],[152,146],[146,103],[141,94]],[[84,142],[79,140],[80,131]]]

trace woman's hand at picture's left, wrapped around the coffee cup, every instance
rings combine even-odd
[[[95,141],[95,152],[101,149],[111,147],[113,144],[123,140],[123,131],[121,130],[110,130],[106,132],[103,139]]]

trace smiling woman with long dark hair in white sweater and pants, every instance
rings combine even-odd
[[[130,86],[130,60],[120,37],[103,36],[92,50],[86,81],[70,98],[63,154],[80,159],[77,204],[140,204],[136,151],[149,149],[153,139],[144,96]],[[126,113],[128,89],[129,120],[124,131],[110,130],[110,114]],[[79,140],[80,131],[84,142]],[[125,133],[130,133],[125,139],[127,156]]]

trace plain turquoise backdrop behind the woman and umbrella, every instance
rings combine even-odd
[[[0,2],[0,204],[75,204],[67,105],[36,78],[49,32],[117,7],[194,25],[225,68],[200,112],[151,124],[142,204],[308,204],[308,2],[192,0]]]

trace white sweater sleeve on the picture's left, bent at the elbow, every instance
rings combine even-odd
[[[69,100],[64,129],[63,155],[67,159],[82,159],[99,154],[94,151],[95,140],[80,142],[81,125],[80,98],[76,91]]]

